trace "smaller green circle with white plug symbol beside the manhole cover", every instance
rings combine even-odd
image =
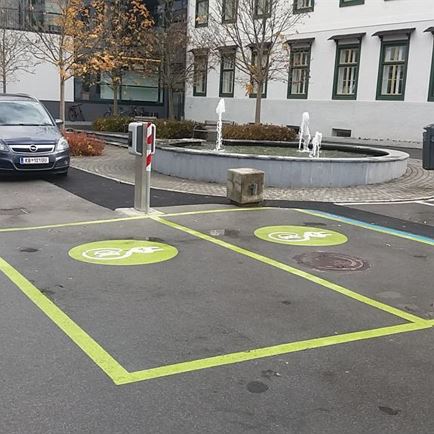
[[[261,240],[291,246],[336,246],[348,238],[339,232],[307,226],[266,226],[256,229]]]

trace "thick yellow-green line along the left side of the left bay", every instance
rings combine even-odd
[[[0,271],[69,336],[114,382],[127,378],[128,371],[126,369],[3,258],[0,258]]]

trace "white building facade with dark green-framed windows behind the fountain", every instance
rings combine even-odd
[[[189,22],[212,7],[207,1],[190,2]],[[286,2],[302,17],[286,35],[287,78],[268,82],[261,121],[297,126],[308,111],[311,129],[324,136],[420,142],[434,124],[434,1]],[[232,77],[225,63],[207,71],[201,92],[188,87],[187,119],[215,119],[224,96],[225,119],[254,120],[255,100],[237,82],[240,71],[233,92],[222,89],[228,86],[220,75]]]

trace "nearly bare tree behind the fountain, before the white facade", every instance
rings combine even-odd
[[[293,14],[285,0],[214,0],[208,26],[196,29],[193,44],[208,45],[210,55],[235,51],[235,68],[246,92],[255,96],[255,123],[261,121],[261,103],[267,81],[284,80],[288,71],[286,36],[302,14]],[[197,19],[203,21],[203,17]],[[223,51],[222,51],[223,50]]]

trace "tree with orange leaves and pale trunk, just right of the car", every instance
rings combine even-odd
[[[40,14],[33,32],[26,34],[36,59],[52,64],[59,74],[59,115],[65,120],[65,83],[74,74],[85,73],[89,53],[98,45],[101,23],[95,18],[98,2],[51,0],[53,12]]]

